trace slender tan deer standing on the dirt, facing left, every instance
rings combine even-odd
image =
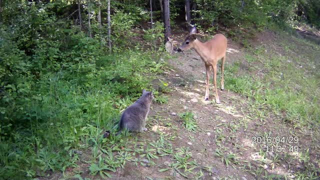
[[[221,59],[221,90],[223,90],[223,65],[225,61],[227,39],[223,34],[218,33],[215,34],[210,40],[202,42],[196,37],[196,31],[197,30],[195,26],[190,28],[189,35],[185,37],[177,51],[182,52],[183,50],[193,48],[200,55],[202,61],[204,62],[206,69],[206,90],[204,100],[209,99],[209,77],[211,68],[213,69],[215,102],[220,103],[216,87],[216,64],[217,61]]]

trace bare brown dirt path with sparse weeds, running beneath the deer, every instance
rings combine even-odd
[[[257,46],[263,43],[268,50],[278,49],[277,53],[285,53],[279,48],[281,43],[278,38],[273,32],[266,31],[257,35],[252,44]],[[173,39],[175,45],[178,45],[183,37],[175,36]],[[225,90],[218,91],[221,104],[216,104],[212,76],[209,101],[205,101],[205,68],[198,54],[189,50],[173,53],[172,56],[169,59],[172,69],[167,69],[154,81],[155,84],[159,80],[168,83],[171,90],[166,94],[167,103],[153,103],[146,125],[148,130],[129,138],[132,141],[134,138],[138,139],[131,144],[132,149],[139,146],[144,151],[134,154],[135,160],[127,161],[123,168],[109,172],[112,177],[108,179],[298,179],[293,174],[297,170],[303,170],[303,163],[295,158],[298,156],[296,153],[268,152],[262,157],[259,152],[265,151],[266,144],[252,143],[252,138],[263,136],[265,132],[271,137],[292,136],[290,132],[295,129],[289,125],[283,126],[281,114],[264,114],[267,120],[260,121],[253,117],[247,97],[229,91],[226,85]],[[240,69],[243,73],[263,75],[263,71],[247,71],[251,64],[245,61],[245,50],[228,39],[226,65],[235,62],[241,62]],[[218,67],[217,78],[220,78],[220,73]],[[224,78],[228,76],[225,75]],[[219,87],[220,83],[217,84]],[[186,112],[190,112],[197,124],[195,132],[186,130],[183,117],[178,116]],[[274,128],[275,126],[278,128]],[[161,149],[163,147],[171,152],[165,155],[163,151],[154,150],[160,149],[151,144],[156,142],[159,142]],[[301,147],[311,143],[318,141],[314,142],[310,136],[300,135],[296,145]],[[157,158],[141,155],[147,154],[148,148]],[[310,156],[319,159],[316,154],[318,150],[314,149]],[[80,158],[82,159],[77,168],[82,171],[83,179],[101,179],[99,175],[89,175],[89,164],[84,157]],[[69,169],[65,172],[69,175],[56,174],[50,179],[71,177],[73,172],[74,169]]]

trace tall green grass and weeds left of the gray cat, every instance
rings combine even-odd
[[[34,89],[19,98],[23,105],[11,103],[1,108],[3,120],[9,122],[0,126],[2,178],[30,178],[47,175],[48,170],[64,171],[76,166],[79,160],[74,150],[92,149],[89,154],[93,160],[89,168],[92,175],[109,176],[106,170],[114,171],[124,163],[120,157],[125,152],[113,156],[106,151],[109,155],[101,157],[101,149],[106,142],[116,144],[113,150],[127,143],[112,136],[120,113],[141,95],[143,88],[151,89],[151,80],[165,65],[156,64],[149,52],[142,51],[125,51],[123,55],[97,60],[95,65],[98,66],[77,66],[75,70],[44,74],[35,82]],[[4,96],[2,100],[10,98]],[[166,100],[162,97],[158,101]],[[105,130],[111,135],[103,139]],[[149,157],[149,153],[146,155]],[[128,160],[129,154],[125,158]],[[117,160],[113,163],[112,159]]]

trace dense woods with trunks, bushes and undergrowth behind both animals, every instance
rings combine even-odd
[[[320,28],[320,2],[0,0],[0,179],[64,171],[78,147],[97,157],[101,132],[165,68],[164,34],[189,24],[245,45],[271,26]]]

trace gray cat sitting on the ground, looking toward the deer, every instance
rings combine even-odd
[[[116,135],[121,133],[124,128],[132,132],[147,130],[144,127],[145,119],[149,113],[152,99],[152,91],[143,89],[141,97],[123,111],[119,122],[119,131]]]

